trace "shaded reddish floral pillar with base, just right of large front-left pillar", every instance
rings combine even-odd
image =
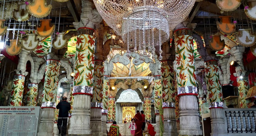
[[[91,118],[90,127],[91,135],[102,136],[101,116],[102,116],[102,98],[103,98],[103,75],[104,66],[103,61],[94,61],[94,84],[93,84],[93,98],[91,102]]]

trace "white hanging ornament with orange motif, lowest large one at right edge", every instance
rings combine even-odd
[[[236,36],[238,42],[244,47],[255,45],[256,35],[252,34],[251,29],[239,29],[239,33]]]

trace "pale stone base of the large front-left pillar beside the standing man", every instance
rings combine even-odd
[[[70,119],[69,135],[91,134],[90,130],[90,96],[75,95],[73,103],[72,118]]]

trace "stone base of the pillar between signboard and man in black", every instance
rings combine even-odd
[[[37,136],[54,136],[54,108],[42,108]]]

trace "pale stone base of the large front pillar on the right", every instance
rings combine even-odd
[[[195,95],[180,96],[180,135],[202,135]]]

